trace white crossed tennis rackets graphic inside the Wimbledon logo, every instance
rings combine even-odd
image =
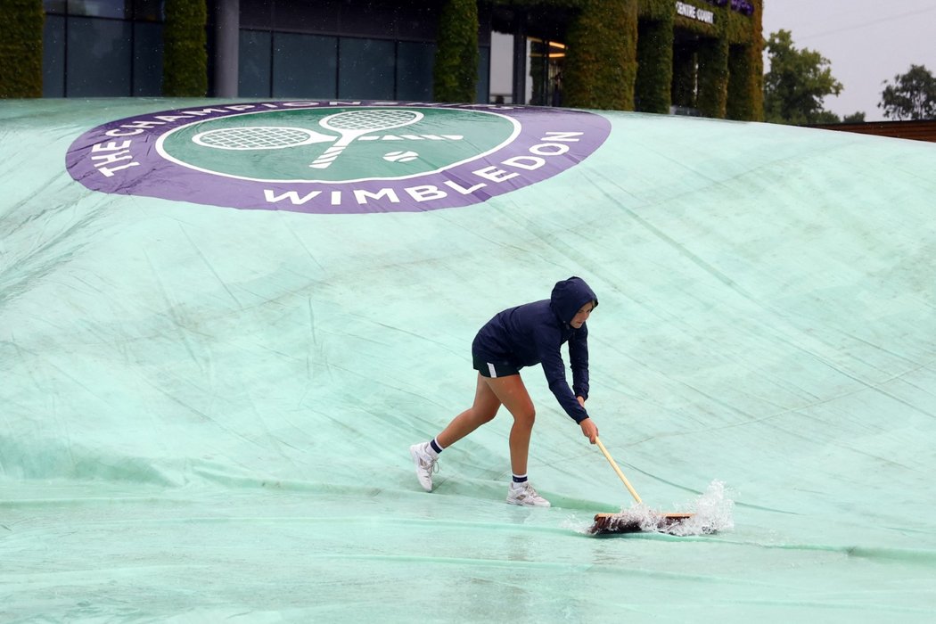
[[[386,132],[417,123],[424,115],[417,110],[369,109],[346,110],[322,119],[318,124],[338,134],[334,142],[309,167],[325,169],[331,166],[348,145],[373,132]],[[441,138],[427,135],[431,138]],[[447,137],[461,138],[461,137]],[[334,140],[334,137],[308,128],[276,125],[217,128],[197,134],[192,140],[198,145],[219,150],[282,150]]]

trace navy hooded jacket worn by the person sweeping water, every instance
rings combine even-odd
[[[543,365],[549,390],[566,414],[577,423],[588,418],[576,397],[588,399],[588,327],[575,329],[569,323],[586,303],[598,297],[584,280],[570,277],[557,282],[552,295],[499,312],[481,327],[472,343],[472,355],[492,364],[516,369]],[[569,343],[572,388],[565,380],[560,347]]]

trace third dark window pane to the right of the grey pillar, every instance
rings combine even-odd
[[[338,97],[393,99],[394,43],[382,39],[339,41]]]

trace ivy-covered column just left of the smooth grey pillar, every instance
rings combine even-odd
[[[208,94],[205,0],[166,0],[163,29],[163,95]]]

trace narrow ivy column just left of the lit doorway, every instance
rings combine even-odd
[[[477,2],[445,0],[436,34],[432,96],[437,102],[474,102],[477,83]]]

